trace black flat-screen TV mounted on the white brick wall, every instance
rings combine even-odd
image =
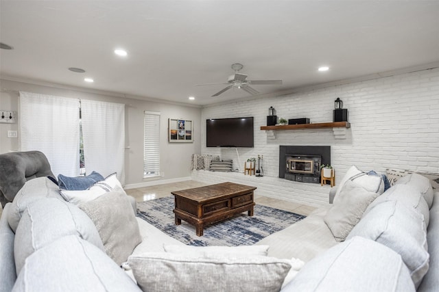
[[[207,147],[253,147],[253,117],[206,120]]]

